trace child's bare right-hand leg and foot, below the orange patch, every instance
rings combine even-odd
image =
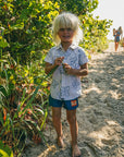
[[[72,157],[79,157],[80,150],[77,146],[78,124],[76,121],[76,109],[66,111],[67,121],[70,123],[72,135]]]

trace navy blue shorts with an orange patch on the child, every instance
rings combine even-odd
[[[78,98],[72,100],[58,100],[49,96],[49,105],[52,107],[64,107],[66,110],[74,110],[78,107]]]

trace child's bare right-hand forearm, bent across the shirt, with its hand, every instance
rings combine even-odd
[[[88,74],[88,64],[85,63],[80,65],[80,69],[72,69],[69,64],[64,63],[64,69],[67,74],[86,76]]]

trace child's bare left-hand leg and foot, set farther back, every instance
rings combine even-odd
[[[58,135],[58,145],[64,147],[62,123],[61,123],[61,108],[52,107],[52,121]]]

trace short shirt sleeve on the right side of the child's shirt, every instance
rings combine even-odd
[[[79,65],[87,63],[89,60],[88,60],[85,51],[83,49],[79,49],[78,52],[79,52]]]

